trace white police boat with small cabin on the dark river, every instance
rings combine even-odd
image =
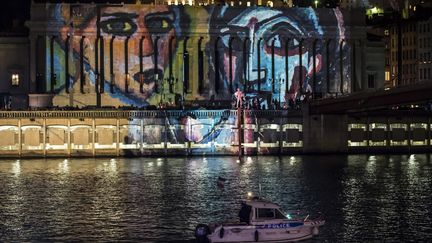
[[[279,205],[254,197],[241,203],[239,222],[206,225],[195,228],[199,243],[208,242],[293,242],[318,235],[325,220],[306,217],[292,218],[282,213]]]

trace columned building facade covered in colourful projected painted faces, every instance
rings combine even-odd
[[[240,88],[270,108],[363,86],[361,12],[34,3],[28,26],[32,90],[56,106],[229,104]]]

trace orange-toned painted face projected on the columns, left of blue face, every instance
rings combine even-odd
[[[86,17],[86,22],[75,33],[94,33],[96,31],[96,11]],[[168,66],[169,42],[176,46],[176,35],[179,33],[179,11],[169,6],[138,6],[104,7],[100,10],[100,33],[104,37],[105,72],[113,73],[114,77],[105,76],[106,84],[112,82],[118,94],[123,95],[123,103],[142,105],[154,93],[157,81],[164,78],[165,68]],[[113,50],[113,70],[109,66],[109,51],[111,37]],[[91,50],[96,48],[93,41],[87,41]],[[125,43],[127,42],[127,57]],[[140,57],[140,45],[142,57]],[[79,53],[79,42],[74,43],[74,49]],[[90,51],[91,52],[91,51]],[[94,51],[93,51],[94,52]],[[92,53],[89,56],[93,55]],[[140,68],[142,58],[142,69]],[[86,61],[86,60],[85,60]],[[91,70],[96,70],[95,62],[88,60]],[[126,66],[127,65],[127,66]],[[127,70],[126,70],[127,68]],[[141,72],[142,71],[142,72]],[[128,82],[128,90],[126,90]],[[143,88],[140,90],[140,85]]]

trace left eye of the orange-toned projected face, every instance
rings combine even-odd
[[[130,36],[137,29],[134,21],[128,18],[111,18],[102,21],[100,24],[105,33],[118,36]]]

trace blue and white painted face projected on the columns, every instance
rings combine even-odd
[[[306,15],[312,19],[316,18],[312,10],[306,11],[298,12],[298,14]],[[311,24],[313,23],[308,23],[308,25]],[[235,75],[233,80],[238,81],[242,79],[243,65],[246,63],[247,72],[245,80],[248,81],[249,89],[253,88],[253,90],[257,90],[258,83],[260,83],[261,93],[273,95],[274,97],[272,98],[277,100],[280,97],[281,102],[285,102],[287,97],[295,99],[300,90],[301,83],[303,83],[303,90],[307,90],[309,85],[307,77],[312,75],[313,72],[312,55],[310,54],[310,50],[305,48],[304,45],[301,48],[300,54],[299,44],[301,39],[299,38],[301,38],[300,36],[308,36],[310,34],[322,34],[320,33],[320,28],[307,30],[300,27],[296,16],[291,17],[281,10],[253,9],[245,10],[240,15],[234,17],[228,22],[227,28],[221,29],[221,34],[226,49],[229,47],[230,38],[237,38],[236,41],[232,42],[232,49],[234,50],[232,62],[233,70],[235,70],[233,72]],[[236,46],[233,43],[243,42],[245,38],[248,38],[250,41],[246,45],[247,60],[246,62],[242,62],[243,43],[236,44],[241,46]],[[287,44],[288,49],[285,48]],[[258,51],[260,52],[260,64],[258,63]],[[287,56],[289,91],[286,90],[284,83],[287,81],[285,71]],[[321,55],[318,53],[315,58],[316,71],[319,72]],[[224,55],[223,72],[229,73],[228,53]],[[273,79],[275,80],[274,87],[272,84]]]

